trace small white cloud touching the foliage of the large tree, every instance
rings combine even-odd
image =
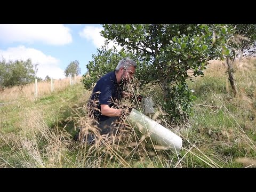
[[[92,43],[99,48],[100,46],[105,44],[106,38],[102,37],[100,35],[100,31],[103,30],[103,27],[95,27],[95,26],[90,26],[86,25],[82,31],[79,32],[79,35],[82,38],[87,39],[88,41],[92,41]],[[117,46],[117,43],[110,42],[108,44],[108,48],[110,49],[113,46],[116,46],[117,50],[121,50],[121,46]]]

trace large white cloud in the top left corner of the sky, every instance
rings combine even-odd
[[[70,29],[61,24],[1,24],[0,42],[65,45],[72,42]]]

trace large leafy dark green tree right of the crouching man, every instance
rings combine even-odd
[[[102,25],[103,37],[116,41],[128,50],[135,50],[146,60],[149,82],[158,81],[163,91],[165,111],[173,118],[191,112],[195,97],[186,79],[203,75],[207,61],[221,56],[226,43],[222,27],[225,25]],[[187,70],[193,70],[188,76]]]

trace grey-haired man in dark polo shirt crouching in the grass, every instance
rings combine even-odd
[[[94,86],[88,107],[89,114],[98,122],[95,125],[101,135],[115,131],[116,121],[122,115],[117,103],[123,97],[130,97],[123,91],[123,86],[133,78],[136,67],[135,61],[124,58],[119,61],[115,71],[102,76]],[[87,135],[87,142],[91,143],[94,139],[93,134]]]

